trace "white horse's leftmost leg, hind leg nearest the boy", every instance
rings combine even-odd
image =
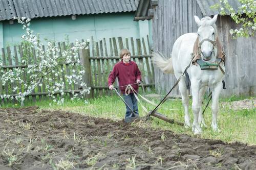
[[[189,117],[189,112],[188,112],[188,101],[189,101],[189,98],[188,98],[188,93],[187,93],[187,88],[186,88],[186,82],[185,82],[185,78],[182,77],[180,82],[179,82],[179,90],[180,90],[180,93],[181,93],[181,99],[182,99],[182,104],[183,104],[183,107],[184,107],[184,119],[185,119],[185,128],[189,128],[191,127],[190,125],[190,117]]]

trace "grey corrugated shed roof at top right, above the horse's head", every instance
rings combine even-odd
[[[228,0],[230,6],[234,11],[238,12],[238,8],[241,6],[237,0]],[[221,12],[221,10],[212,10],[210,6],[219,4],[219,0],[197,0],[197,4],[202,11],[204,16],[216,15]]]

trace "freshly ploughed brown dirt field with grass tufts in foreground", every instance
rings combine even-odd
[[[62,111],[0,109],[0,169],[256,169],[256,146]]]

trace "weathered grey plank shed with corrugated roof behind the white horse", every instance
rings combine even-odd
[[[140,0],[135,20],[152,19],[153,51],[171,57],[175,40],[182,34],[197,32],[194,15],[202,18],[219,11],[210,6],[219,0]],[[229,0],[237,10],[237,0]],[[233,39],[230,29],[238,29],[230,16],[218,16],[217,27],[226,53],[226,90],[222,96],[250,95],[256,93],[256,36]],[[155,70],[155,86],[158,93],[166,93],[176,82],[174,75]],[[178,94],[178,88],[173,94]]]

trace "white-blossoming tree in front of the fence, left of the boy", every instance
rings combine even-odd
[[[53,102],[61,104],[64,102],[65,92],[72,93],[71,100],[83,96],[84,94],[90,93],[90,87],[82,81],[84,75],[84,69],[79,68],[78,71],[74,69],[75,63],[76,67],[81,67],[80,58],[78,56],[78,51],[89,47],[89,40],[85,42],[80,42],[75,40],[74,46],[67,48],[66,50],[60,50],[56,47],[54,43],[48,42],[47,49],[44,50],[44,45],[40,43],[39,38],[33,34],[33,30],[29,28],[30,18],[14,18],[18,20],[18,23],[23,25],[23,29],[26,33],[22,36],[26,47],[23,47],[24,57],[21,59],[22,65],[24,67],[16,67],[13,69],[3,69],[0,68],[0,78],[2,80],[2,85],[5,86],[8,83],[16,84],[9,91],[17,92],[16,95],[1,94],[2,99],[11,99],[21,102],[24,106],[24,100],[26,96],[31,94],[35,87],[42,86],[42,82],[46,84],[46,92],[53,99]],[[35,57],[39,59],[38,63],[30,63],[28,56],[25,52],[33,50]],[[73,69],[69,74],[65,71],[63,65],[71,66]],[[0,62],[0,66],[3,63]],[[27,81],[24,81],[23,76],[26,75]],[[51,75],[51,76],[49,76]],[[60,76],[60,75],[64,75]],[[66,81],[66,82],[65,82]],[[75,93],[74,90],[67,90],[65,84],[76,84],[79,87],[83,87],[79,93]],[[22,88],[19,88],[17,84],[22,84]],[[10,87],[9,87],[10,88]],[[59,94],[57,97],[56,94]],[[78,98],[79,99],[79,98]]]

